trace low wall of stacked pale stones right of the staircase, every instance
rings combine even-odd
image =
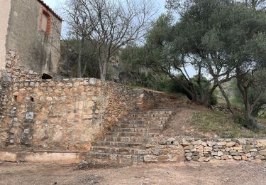
[[[266,139],[183,139],[182,146],[188,161],[252,161],[266,158]]]

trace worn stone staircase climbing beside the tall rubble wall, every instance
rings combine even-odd
[[[104,139],[92,144],[87,160],[97,164],[126,165],[158,161],[163,149],[150,149],[147,145],[162,133],[180,103],[174,97],[165,97],[153,110],[131,112],[107,132]]]

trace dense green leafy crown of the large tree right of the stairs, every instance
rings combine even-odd
[[[137,47],[133,59],[126,61],[169,75],[174,79],[171,89],[185,93],[191,100],[211,99],[211,104],[216,104],[217,98],[212,93],[217,83],[226,83],[235,72],[265,68],[266,14],[240,1],[190,2],[167,1],[174,9],[184,8],[180,20],[174,23],[170,14],[160,16],[149,31],[145,46]],[[189,80],[182,70],[185,65],[209,73],[214,78],[212,84],[203,77]],[[182,75],[176,75],[177,71]],[[145,77],[142,79],[146,85],[156,86],[150,83],[150,76]],[[251,91],[258,92],[256,88]],[[251,97],[254,99],[255,94]]]

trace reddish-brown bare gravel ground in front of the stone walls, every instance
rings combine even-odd
[[[266,162],[76,165],[0,163],[0,184],[266,184]]]

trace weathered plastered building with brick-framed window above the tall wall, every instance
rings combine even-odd
[[[16,53],[19,65],[54,77],[60,60],[62,18],[42,0],[1,0],[0,69],[6,52]]]

